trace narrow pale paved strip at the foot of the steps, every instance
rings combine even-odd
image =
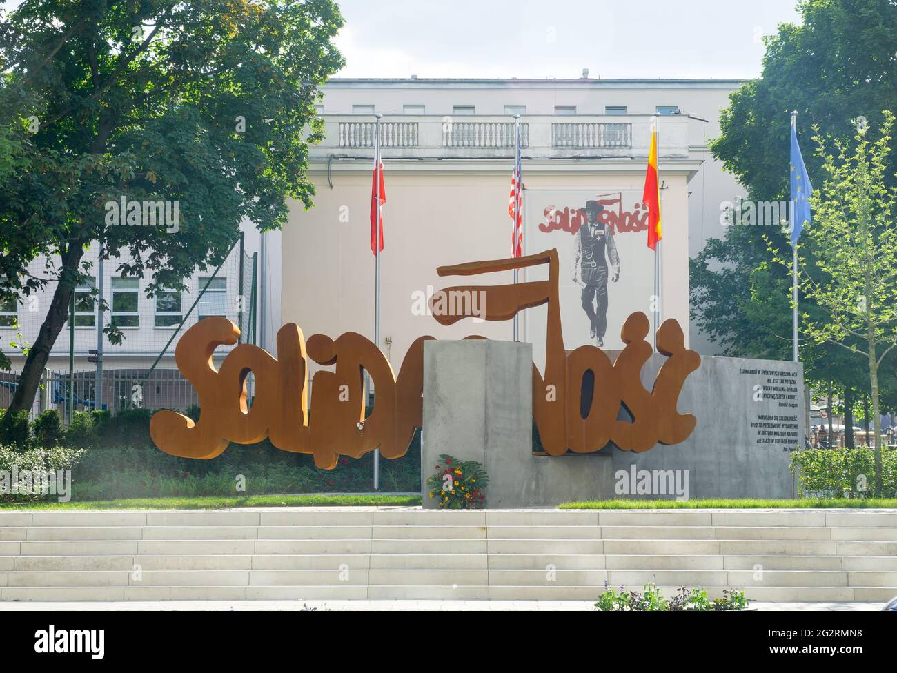
[[[0,602],[3,610],[592,610],[588,600],[124,600]],[[761,603],[762,611],[880,610],[884,603]]]

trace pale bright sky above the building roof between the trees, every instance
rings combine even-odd
[[[756,77],[796,0],[343,0],[340,77]]]

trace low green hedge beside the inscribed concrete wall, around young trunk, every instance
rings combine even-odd
[[[797,495],[866,498],[874,495],[875,454],[857,449],[807,449],[791,454]],[[897,450],[882,449],[882,497],[897,496]]]

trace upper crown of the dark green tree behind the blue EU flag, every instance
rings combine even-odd
[[[762,77],[730,96],[710,145],[757,201],[788,198],[791,110],[802,128],[849,137],[859,116],[879,125],[882,110],[897,109],[892,0],[803,0],[798,9],[800,25],[781,24],[765,39]],[[805,159],[815,185],[821,163]],[[887,172],[893,184],[893,157]]]

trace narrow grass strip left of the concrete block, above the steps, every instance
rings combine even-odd
[[[335,507],[349,506],[416,506],[421,496],[391,496],[346,494],[308,496],[196,496],[143,497],[126,500],[96,500],[88,502],[0,503],[0,510],[35,509],[227,509],[230,507]]]

